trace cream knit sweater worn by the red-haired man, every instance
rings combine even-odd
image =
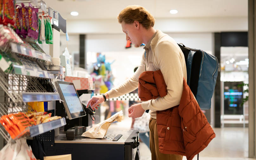
[[[184,55],[173,38],[157,31],[149,43],[152,49],[149,54],[152,55],[146,56],[146,59],[143,52],[141,63],[134,75],[123,84],[108,91],[107,94],[109,98],[113,98],[130,93],[138,88],[139,76],[145,68],[147,71],[150,66],[153,67],[151,70],[160,69],[167,86],[167,95],[142,102],[142,108],[150,109],[151,118],[156,119],[156,111],[179,105],[183,91],[183,77],[187,80],[187,70]]]

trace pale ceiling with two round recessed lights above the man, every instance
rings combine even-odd
[[[115,19],[128,5],[141,5],[155,18],[247,16],[247,0],[45,0],[67,19]],[[175,15],[171,9],[178,10]],[[77,11],[78,16],[71,16]]]

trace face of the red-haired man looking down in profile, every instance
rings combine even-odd
[[[140,33],[138,30],[138,26],[136,23],[127,24],[124,21],[121,23],[122,30],[126,35],[126,41],[130,40],[130,42],[135,46],[139,47],[142,42],[140,38]]]

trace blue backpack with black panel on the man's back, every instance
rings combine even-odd
[[[187,83],[201,109],[211,108],[216,79],[219,70],[218,59],[200,49],[185,47],[181,48],[187,66]]]

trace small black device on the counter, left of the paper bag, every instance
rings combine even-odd
[[[86,127],[84,126],[75,126],[72,128],[69,128],[66,131],[66,138],[67,140],[74,140],[81,137],[81,135],[86,131]]]

